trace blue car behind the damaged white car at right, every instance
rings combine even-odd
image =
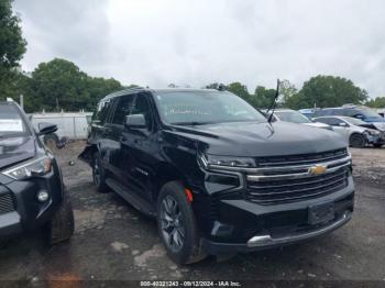
[[[351,117],[360,119],[366,123],[372,123],[376,129],[385,131],[385,119],[374,110],[366,107],[344,106],[338,108],[316,109],[314,118],[318,117]]]

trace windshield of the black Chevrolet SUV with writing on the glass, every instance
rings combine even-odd
[[[266,122],[252,106],[230,92],[158,91],[155,101],[162,120],[169,124]]]

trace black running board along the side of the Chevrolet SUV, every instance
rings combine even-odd
[[[139,196],[134,196],[129,189],[122,186],[120,182],[112,178],[107,178],[106,184],[120,197],[122,197],[125,201],[132,204],[138,211],[150,215],[155,217],[156,212],[153,207],[147,203],[145,200],[139,198]]]

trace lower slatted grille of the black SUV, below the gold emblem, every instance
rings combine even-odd
[[[322,197],[348,186],[349,167],[320,176],[266,181],[248,180],[245,197],[260,204],[275,204]]]

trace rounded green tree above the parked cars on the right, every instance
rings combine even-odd
[[[286,99],[293,109],[339,107],[345,103],[362,104],[367,92],[351,80],[334,76],[316,76],[304,84],[297,95]]]

